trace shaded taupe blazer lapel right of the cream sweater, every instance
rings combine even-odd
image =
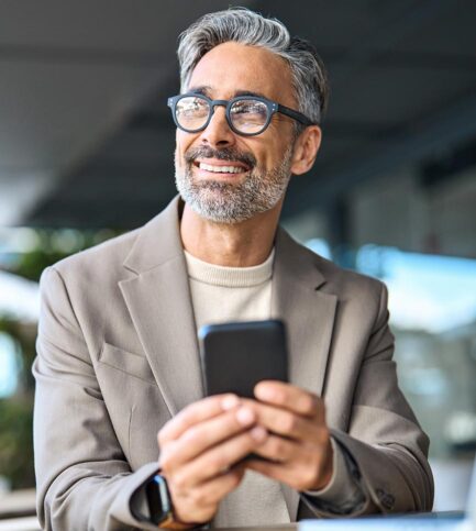
[[[272,313],[287,327],[290,383],[322,395],[337,298],[319,288],[325,278],[319,258],[303,250],[284,230],[276,236]],[[299,494],[283,485],[291,521]]]

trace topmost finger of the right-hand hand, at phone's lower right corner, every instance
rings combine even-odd
[[[277,380],[259,381],[254,389],[255,397],[295,413],[313,418],[323,409],[323,400],[299,387]]]

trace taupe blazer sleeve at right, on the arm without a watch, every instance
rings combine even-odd
[[[370,512],[430,511],[433,477],[429,439],[398,387],[394,335],[388,327],[387,288],[358,374],[348,431],[331,430],[351,457],[353,475],[367,495],[350,516]],[[300,507],[300,517],[331,517],[317,507]]]

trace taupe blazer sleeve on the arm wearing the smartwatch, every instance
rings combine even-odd
[[[41,292],[33,374],[42,529],[156,529],[134,518],[132,504],[156,474],[158,463],[131,471],[111,425],[66,286],[55,268],[44,272]]]

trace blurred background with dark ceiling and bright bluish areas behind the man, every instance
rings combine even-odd
[[[175,195],[177,36],[229,3],[0,0],[3,516],[32,510],[40,274]],[[322,148],[283,221],[386,281],[400,384],[432,441],[435,508],[461,509],[476,447],[476,2],[239,4],[283,20],[328,66]]]

